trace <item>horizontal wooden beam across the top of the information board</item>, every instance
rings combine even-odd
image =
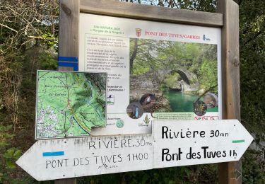
[[[143,4],[128,4],[110,0],[81,0],[82,13],[95,13],[107,16],[136,18],[148,21],[184,23],[189,25],[223,26],[223,14],[202,11],[189,11]]]

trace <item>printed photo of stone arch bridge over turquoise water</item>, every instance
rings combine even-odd
[[[196,100],[218,96],[217,63],[217,45],[133,38],[130,102],[152,96],[145,112],[192,112]]]

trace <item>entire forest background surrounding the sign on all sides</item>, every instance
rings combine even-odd
[[[216,0],[125,1],[216,11]],[[265,1],[235,2],[240,7],[241,120],[257,144],[242,158],[242,181],[265,183]],[[57,69],[58,15],[57,0],[0,0],[0,183],[37,183],[15,161],[35,142],[36,70]],[[84,177],[77,182],[217,183],[217,177],[216,164],[207,164]]]

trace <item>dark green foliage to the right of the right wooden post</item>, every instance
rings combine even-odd
[[[240,100],[243,125],[259,149],[242,159],[244,183],[265,183],[265,1],[240,4]],[[263,144],[262,144],[263,143]]]

